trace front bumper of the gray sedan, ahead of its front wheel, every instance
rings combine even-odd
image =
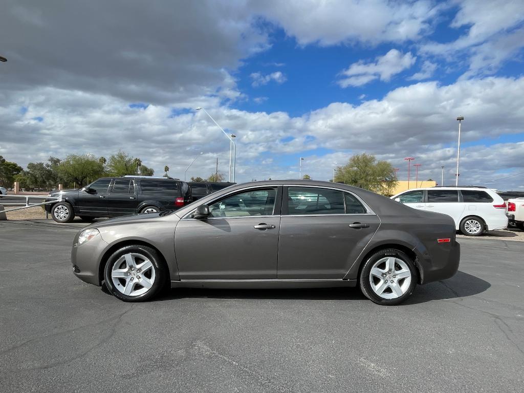
[[[78,245],[77,235],[71,250],[73,274],[84,282],[100,286],[100,260],[108,246],[101,235],[95,236],[91,240]]]

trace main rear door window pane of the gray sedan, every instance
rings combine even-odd
[[[326,188],[289,187],[288,214],[345,214],[344,193]]]

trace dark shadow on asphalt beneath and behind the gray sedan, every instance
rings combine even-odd
[[[484,292],[490,283],[478,277],[458,271],[447,280],[419,285],[412,296],[400,305],[425,303],[431,300],[444,300],[473,296]],[[209,299],[297,299],[297,300],[367,300],[358,288],[301,288],[301,289],[207,289],[172,288],[166,289],[154,301],[184,298]]]

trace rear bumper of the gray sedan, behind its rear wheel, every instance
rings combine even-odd
[[[423,242],[425,250],[418,254],[418,264],[421,270],[420,281],[428,282],[445,280],[453,277],[460,264],[460,244],[454,239],[450,243]]]

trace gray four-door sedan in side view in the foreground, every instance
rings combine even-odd
[[[450,216],[370,191],[308,180],[233,185],[175,212],[119,217],[80,231],[74,274],[124,301],[162,287],[356,287],[378,304],[452,277]]]

